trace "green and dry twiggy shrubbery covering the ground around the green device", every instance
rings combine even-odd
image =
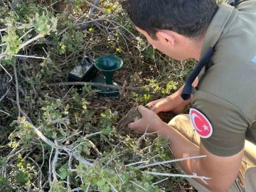
[[[193,191],[168,141],[115,127],[178,90],[194,60],[149,46],[113,0],[1,1],[0,35],[0,191]],[[85,55],[122,58],[119,97],[68,84]]]

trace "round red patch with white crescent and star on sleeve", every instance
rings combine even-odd
[[[193,108],[189,110],[189,114],[193,127],[196,129],[199,136],[202,138],[209,138],[213,134],[213,127],[206,116]]]

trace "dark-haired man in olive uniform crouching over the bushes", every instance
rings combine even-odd
[[[211,178],[188,179],[198,191],[256,191],[250,182],[256,178],[256,0],[220,6],[215,0],[127,0],[122,6],[151,45],[176,60],[199,60],[186,85],[149,102],[152,110],[140,106],[142,119],[129,129],[159,132],[177,159],[206,155],[177,164],[186,174]],[[190,114],[169,124],[156,115],[182,112],[191,102]]]

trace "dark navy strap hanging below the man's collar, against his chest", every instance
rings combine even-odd
[[[192,83],[194,80],[196,80],[196,77],[201,72],[202,68],[208,63],[210,58],[213,56],[213,48],[210,47],[206,51],[206,54],[203,55],[201,60],[199,60],[198,64],[196,65],[196,68],[192,71],[191,75],[189,75],[188,80],[186,80],[185,86],[183,87],[183,90],[181,92],[181,97],[183,100],[189,100],[191,98],[192,94]]]

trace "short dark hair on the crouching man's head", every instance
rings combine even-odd
[[[121,4],[135,26],[154,40],[161,29],[201,38],[218,10],[215,0],[124,0]]]

